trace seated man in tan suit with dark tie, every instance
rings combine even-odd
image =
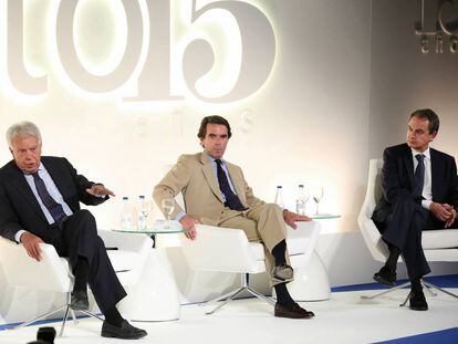
[[[225,118],[205,117],[197,136],[204,152],[179,157],[154,189],[157,205],[160,207],[163,199],[183,192],[186,213],[176,204],[171,216],[189,230],[189,239],[197,237],[195,223],[204,223],[240,228],[248,240],[261,241],[267,248],[267,271],[271,272],[271,284],[278,296],[274,315],[312,317],[313,312],[300,307],[285,285],[293,278],[293,269],[287,263],[284,222],[296,228],[295,220],[310,219],[256,198],[240,167],[222,160],[231,137],[230,125]]]

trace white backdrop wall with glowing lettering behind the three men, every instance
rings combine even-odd
[[[121,196],[149,196],[222,115],[226,157],[259,197],[283,185],[293,208],[299,183],[324,185],[323,211],[356,230],[367,160],[404,140],[413,110],[437,110],[435,146],[458,154],[458,56],[419,53],[418,3],[0,0],[0,132],[35,122],[43,154],[118,195],[94,208],[113,228]]]

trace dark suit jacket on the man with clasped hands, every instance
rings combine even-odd
[[[458,209],[458,177],[455,158],[429,148],[431,158],[433,201],[449,204]],[[385,149],[383,154],[382,187],[383,197],[376,206],[373,219],[376,223],[388,220],[397,200],[412,197],[414,187],[414,161],[412,149],[402,144]]]

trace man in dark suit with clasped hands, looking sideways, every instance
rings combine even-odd
[[[458,177],[454,157],[429,147],[439,118],[431,110],[415,111],[408,122],[407,143],[384,152],[383,197],[373,220],[387,243],[389,257],[374,279],[386,285],[396,281],[396,262],[403,254],[412,283],[412,310],[428,304],[420,279],[430,272],[421,247],[421,231],[458,228]]]

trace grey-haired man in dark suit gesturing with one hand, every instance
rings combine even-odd
[[[139,338],[146,332],[132,326],[116,309],[125,295],[85,205],[100,205],[114,194],[89,181],[61,157],[41,156],[41,134],[30,122],[12,125],[7,140],[13,160],[0,169],[0,234],[22,243],[40,261],[40,243],[67,257],[74,275],[73,310],[87,310],[87,283],[105,315],[102,336]],[[21,273],[18,271],[18,273]]]

